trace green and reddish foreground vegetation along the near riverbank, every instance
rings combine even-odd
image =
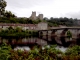
[[[80,60],[80,46],[68,48],[65,52],[56,49],[55,45],[44,49],[34,47],[34,50],[13,50],[5,43],[0,46],[0,60]]]

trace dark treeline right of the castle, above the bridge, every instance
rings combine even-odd
[[[78,26],[79,19],[73,19],[73,18],[53,18],[50,19],[44,18],[48,22],[49,26],[59,26],[59,25],[65,25],[65,26]]]

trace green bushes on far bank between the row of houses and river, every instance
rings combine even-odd
[[[27,37],[27,36],[37,36],[38,32],[33,30],[22,30],[21,28],[17,27],[13,29],[12,27],[9,27],[6,30],[0,31],[1,37]]]

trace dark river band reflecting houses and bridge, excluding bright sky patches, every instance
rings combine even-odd
[[[48,38],[46,38],[48,37]],[[24,37],[24,38],[2,38],[0,37],[0,44],[1,43],[7,43],[12,46],[28,46],[28,45],[40,45],[40,46],[45,46],[45,45],[51,45],[51,44],[57,44],[59,46],[69,46],[72,42],[67,41],[64,37],[59,37],[54,38],[53,36],[43,36],[42,38],[38,37]]]

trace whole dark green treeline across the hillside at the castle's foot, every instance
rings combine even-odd
[[[78,24],[79,19],[73,19],[73,18],[53,18],[50,19],[44,18],[43,20],[31,20],[29,18],[17,18],[17,17],[0,17],[0,23],[21,23],[21,24],[38,24],[40,22],[47,22],[48,26],[59,26],[59,25],[65,25],[65,26],[79,26]]]

